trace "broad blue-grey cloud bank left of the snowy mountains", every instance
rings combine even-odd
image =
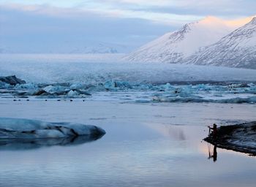
[[[12,4],[12,7],[1,7],[0,48],[48,51],[49,48],[75,48],[105,42],[126,45],[130,50],[174,29],[144,19],[106,17],[94,11],[78,13],[72,8],[37,6],[23,9]]]

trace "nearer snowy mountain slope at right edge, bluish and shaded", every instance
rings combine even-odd
[[[187,64],[256,69],[256,17],[245,26],[187,58]]]

